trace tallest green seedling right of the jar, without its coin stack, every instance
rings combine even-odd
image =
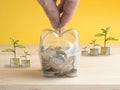
[[[114,37],[107,37],[108,32],[110,30],[110,27],[107,27],[107,28],[101,29],[101,30],[102,30],[102,33],[95,34],[95,37],[101,37],[101,36],[104,37],[104,47],[106,47],[107,41],[110,41],[110,40],[117,41],[118,40],[118,39],[116,39]]]

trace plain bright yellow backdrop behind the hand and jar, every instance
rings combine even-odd
[[[81,0],[66,29],[76,28],[83,44],[107,26],[111,27],[109,35],[120,39],[120,0]],[[8,44],[10,37],[23,44],[39,44],[45,28],[52,27],[36,0],[0,0],[0,44]],[[102,41],[98,38],[98,43]]]

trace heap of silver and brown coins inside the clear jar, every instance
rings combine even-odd
[[[77,68],[75,67],[77,57],[73,51],[70,53],[68,50],[69,48],[63,46],[49,46],[47,48],[42,46],[41,59],[44,76],[74,77],[77,75]]]

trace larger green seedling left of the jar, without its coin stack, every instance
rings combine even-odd
[[[2,50],[2,52],[12,52],[14,54],[14,58],[16,58],[16,48],[25,48],[25,46],[18,44],[19,40],[14,40],[13,38],[10,38],[10,42],[13,46],[13,49],[8,48],[5,50]]]

